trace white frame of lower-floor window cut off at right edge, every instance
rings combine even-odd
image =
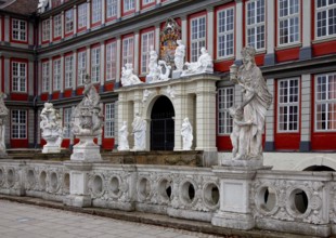
[[[334,81],[334,91],[331,91],[333,94],[336,94],[336,71],[335,72],[328,72],[328,74],[321,74],[321,75],[315,75],[314,80],[315,80],[315,89],[314,89],[314,131],[315,132],[335,132],[336,131],[336,110],[334,113],[334,118],[329,118],[329,105],[334,105],[336,108],[336,95],[334,96],[335,98],[331,98],[329,93],[324,93],[325,98],[319,98],[319,88],[322,89],[322,85],[319,83],[319,78],[325,77],[325,90],[324,92],[329,92],[331,90],[331,83],[329,80],[332,79]],[[322,94],[321,94],[322,96]],[[325,129],[318,129],[318,106],[319,105],[325,105]],[[333,119],[333,120],[331,120]],[[332,121],[332,122],[329,122]],[[334,122],[333,122],[334,121]],[[334,123],[335,128],[329,129],[329,123]]]

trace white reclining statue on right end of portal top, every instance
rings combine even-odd
[[[205,48],[201,49],[201,55],[197,62],[185,62],[186,69],[182,71],[182,76],[214,72],[212,58]]]

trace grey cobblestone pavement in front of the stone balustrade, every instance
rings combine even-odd
[[[216,237],[0,200],[0,237]]]

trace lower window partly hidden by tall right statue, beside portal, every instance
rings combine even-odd
[[[234,87],[218,90],[218,134],[230,134],[233,120],[228,109],[234,103]]]

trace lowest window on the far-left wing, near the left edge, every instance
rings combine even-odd
[[[12,110],[12,138],[27,137],[27,111]]]

